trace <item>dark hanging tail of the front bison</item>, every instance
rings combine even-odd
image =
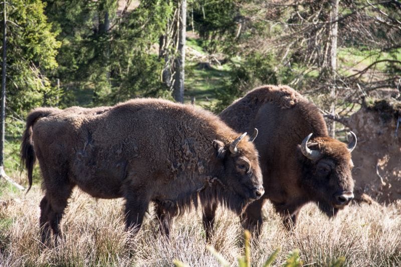
[[[58,109],[55,108],[39,108],[33,110],[27,117],[27,124],[21,143],[21,166],[24,166],[27,169],[29,180],[27,193],[32,187],[32,174],[36,162],[36,154],[32,143],[32,126],[38,119],[47,117],[57,110]]]

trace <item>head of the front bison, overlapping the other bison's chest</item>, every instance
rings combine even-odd
[[[217,158],[222,163],[220,179],[224,187],[241,198],[242,202],[259,199],[265,192],[259,155],[253,144],[257,134],[258,130],[255,129],[254,135],[249,138],[244,133],[232,142],[213,141]]]

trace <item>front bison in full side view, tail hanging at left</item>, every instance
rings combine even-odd
[[[167,235],[171,218],[196,207],[198,197],[202,206],[219,202],[241,213],[264,193],[254,138],[246,135],[208,111],[166,100],[33,110],[21,158],[29,189],[36,158],[43,176],[42,242],[50,229],[57,242],[76,186],[97,198],[125,198],[125,222],[133,232],[151,201]]]

